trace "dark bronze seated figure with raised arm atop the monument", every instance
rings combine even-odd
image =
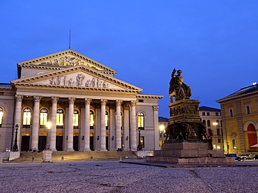
[[[175,73],[177,72],[177,75]],[[175,97],[176,100],[181,100],[185,98],[190,98],[192,95],[191,87],[183,82],[183,77],[181,77],[182,70],[177,70],[174,68],[171,80],[169,82],[169,95],[172,100],[172,97]]]

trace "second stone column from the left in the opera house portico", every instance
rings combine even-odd
[[[33,118],[32,118],[32,132],[31,132],[31,149],[38,150],[38,127],[40,121],[40,96],[34,96]]]

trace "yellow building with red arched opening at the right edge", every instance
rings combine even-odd
[[[226,153],[258,153],[258,84],[253,84],[217,100],[222,113]]]

